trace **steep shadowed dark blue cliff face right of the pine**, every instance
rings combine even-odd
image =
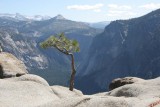
[[[113,21],[96,36],[79,70],[77,87],[94,93],[107,90],[114,78],[154,78],[160,75],[159,64],[160,10],[156,10],[143,17]]]

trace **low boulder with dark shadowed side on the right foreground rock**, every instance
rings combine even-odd
[[[115,88],[118,88],[118,87],[126,85],[126,84],[133,84],[133,83],[138,82],[138,81],[143,81],[143,79],[137,78],[137,77],[117,78],[117,79],[114,79],[109,84],[109,90],[113,90]]]

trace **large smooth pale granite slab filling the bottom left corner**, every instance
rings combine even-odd
[[[38,107],[59,100],[50,86],[17,78],[0,79],[0,107]]]

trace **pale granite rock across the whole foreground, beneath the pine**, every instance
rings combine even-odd
[[[0,59],[5,57],[0,53]],[[22,66],[12,57],[5,63],[14,63],[17,70]],[[5,59],[5,58],[4,58]],[[3,65],[3,60],[0,60]],[[9,62],[8,62],[9,61]],[[12,65],[12,64],[11,64]],[[23,65],[23,64],[22,64]],[[5,65],[3,65],[5,66]],[[10,66],[8,64],[8,66]],[[81,91],[69,91],[62,86],[49,86],[43,78],[27,74],[15,69],[4,69],[15,76],[0,79],[0,107],[159,107],[160,106],[160,78],[138,81],[114,88],[109,92],[94,95],[83,95]],[[15,67],[14,67],[15,68]],[[12,72],[13,70],[13,72]],[[17,73],[23,75],[16,76]]]

